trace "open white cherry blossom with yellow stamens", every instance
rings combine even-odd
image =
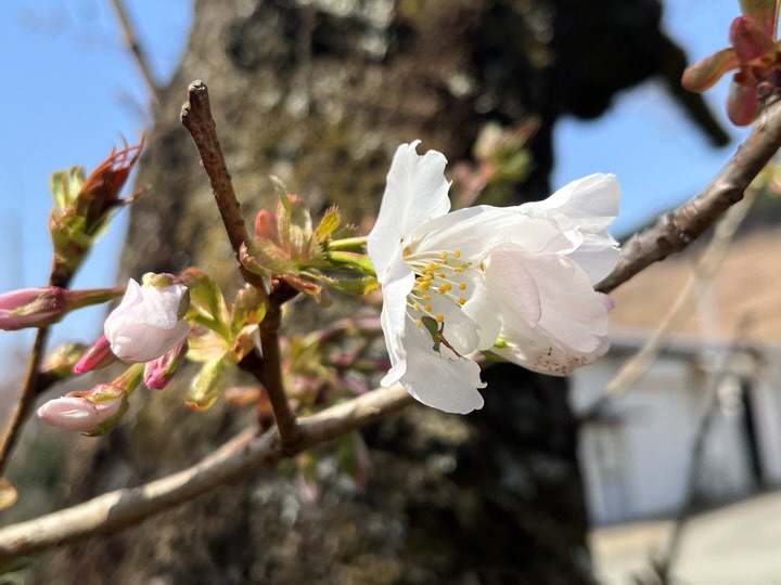
[[[618,258],[605,231],[618,211],[615,178],[448,213],[447,160],[418,155],[418,143],[397,150],[368,238],[392,364],[382,384],[465,414],[483,406],[477,351],[555,375],[604,354],[609,303],[593,285]]]

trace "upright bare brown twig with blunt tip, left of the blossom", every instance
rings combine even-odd
[[[228,232],[231,247],[235,253],[239,269],[244,281],[255,286],[263,295],[266,287],[260,276],[246,270],[241,263],[242,244],[249,239],[244,219],[242,218],[239,199],[233,191],[222,148],[217,138],[217,125],[212,116],[208,88],[201,80],[193,81],[188,88],[188,102],[182,106],[180,119],[195,142],[201,155],[204,170],[212,184],[212,193],[217,202],[222,223]]]

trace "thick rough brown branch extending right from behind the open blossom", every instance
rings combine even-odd
[[[610,292],[649,265],[686,248],[743,198],[754,178],[781,147],[781,100],[776,93],[751,134],[700,195],[665,213],[622,247],[618,265],[597,289]]]

